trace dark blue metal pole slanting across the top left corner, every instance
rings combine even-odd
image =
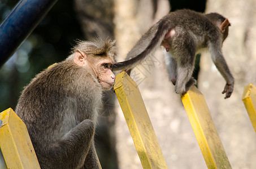
[[[0,25],[0,67],[58,0],[20,0]]]

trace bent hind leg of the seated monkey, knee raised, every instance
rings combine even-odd
[[[82,167],[92,143],[94,130],[95,125],[89,119],[77,124],[60,141],[51,145],[46,160],[50,161],[50,164],[46,165],[42,161],[40,165],[45,166],[42,168]]]

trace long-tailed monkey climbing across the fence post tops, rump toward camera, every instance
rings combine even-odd
[[[198,52],[208,48],[211,59],[227,82],[222,94],[225,99],[233,91],[234,78],[222,55],[222,43],[228,36],[228,19],[217,13],[201,14],[178,10],[153,25],[128,53],[126,61],[115,63],[113,70],[129,70],[162,45],[169,52],[168,72],[175,92],[184,95],[196,83],[192,77]]]

